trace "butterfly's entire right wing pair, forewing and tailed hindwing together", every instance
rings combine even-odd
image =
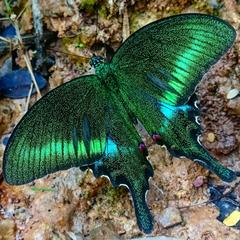
[[[212,16],[173,16],[131,35],[111,62],[123,99],[146,130],[159,134],[159,143],[175,156],[193,159],[225,181],[236,174],[201,146],[195,121],[199,113],[184,104],[235,35],[228,23]]]

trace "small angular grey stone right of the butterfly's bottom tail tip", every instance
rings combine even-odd
[[[180,211],[175,207],[168,207],[163,210],[159,222],[164,228],[172,227],[182,222]]]

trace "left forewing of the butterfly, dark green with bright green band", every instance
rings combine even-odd
[[[106,93],[94,75],[72,80],[40,99],[14,129],[3,158],[10,184],[91,165],[106,145]]]

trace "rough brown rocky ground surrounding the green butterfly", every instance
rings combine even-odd
[[[92,5],[94,2],[40,1],[44,25],[57,31],[59,38],[51,46],[58,52],[54,51],[56,63],[51,68],[49,89],[89,71],[87,60],[73,54],[89,57],[90,48],[96,47],[97,42],[116,49],[129,35],[129,29],[134,32],[158,18],[181,12],[202,12],[220,16],[235,29],[240,26],[240,6],[233,0],[101,1],[98,14]],[[24,5],[27,1],[21,3]],[[0,1],[0,5],[3,6],[3,2]],[[25,6],[19,23],[23,34],[31,32],[33,27],[31,6]],[[228,100],[227,94],[233,88],[240,89],[239,47],[237,38],[233,49],[205,75],[197,90],[202,107],[204,145],[225,166],[238,171],[240,97]],[[18,62],[22,62],[21,56]],[[33,96],[31,104],[35,101]],[[22,117],[25,105],[25,99],[0,100],[0,137],[10,133]],[[165,148],[151,142],[149,146],[149,160],[155,169],[147,196],[155,219],[151,236],[239,240],[239,230],[216,219],[219,213],[214,205],[186,207],[208,200],[209,181],[224,183],[188,159],[173,158]],[[0,162],[3,151],[2,144]],[[169,207],[177,209],[170,214],[177,220],[175,226],[166,228],[161,219]],[[0,239],[129,239],[137,236],[142,233],[136,225],[127,190],[112,188],[106,179],[95,179],[90,171],[69,169],[19,187],[1,182]]]

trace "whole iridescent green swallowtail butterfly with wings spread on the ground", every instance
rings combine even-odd
[[[50,91],[16,126],[3,158],[6,182],[21,185],[71,167],[91,168],[113,186],[128,187],[138,226],[150,233],[153,217],[145,196],[153,168],[137,122],[172,155],[233,181],[236,173],[201,145],[199,110],[189,98],[235,37],[219,18],[183,14],[136,31],[109,63],[93,56],[95,74]]]

